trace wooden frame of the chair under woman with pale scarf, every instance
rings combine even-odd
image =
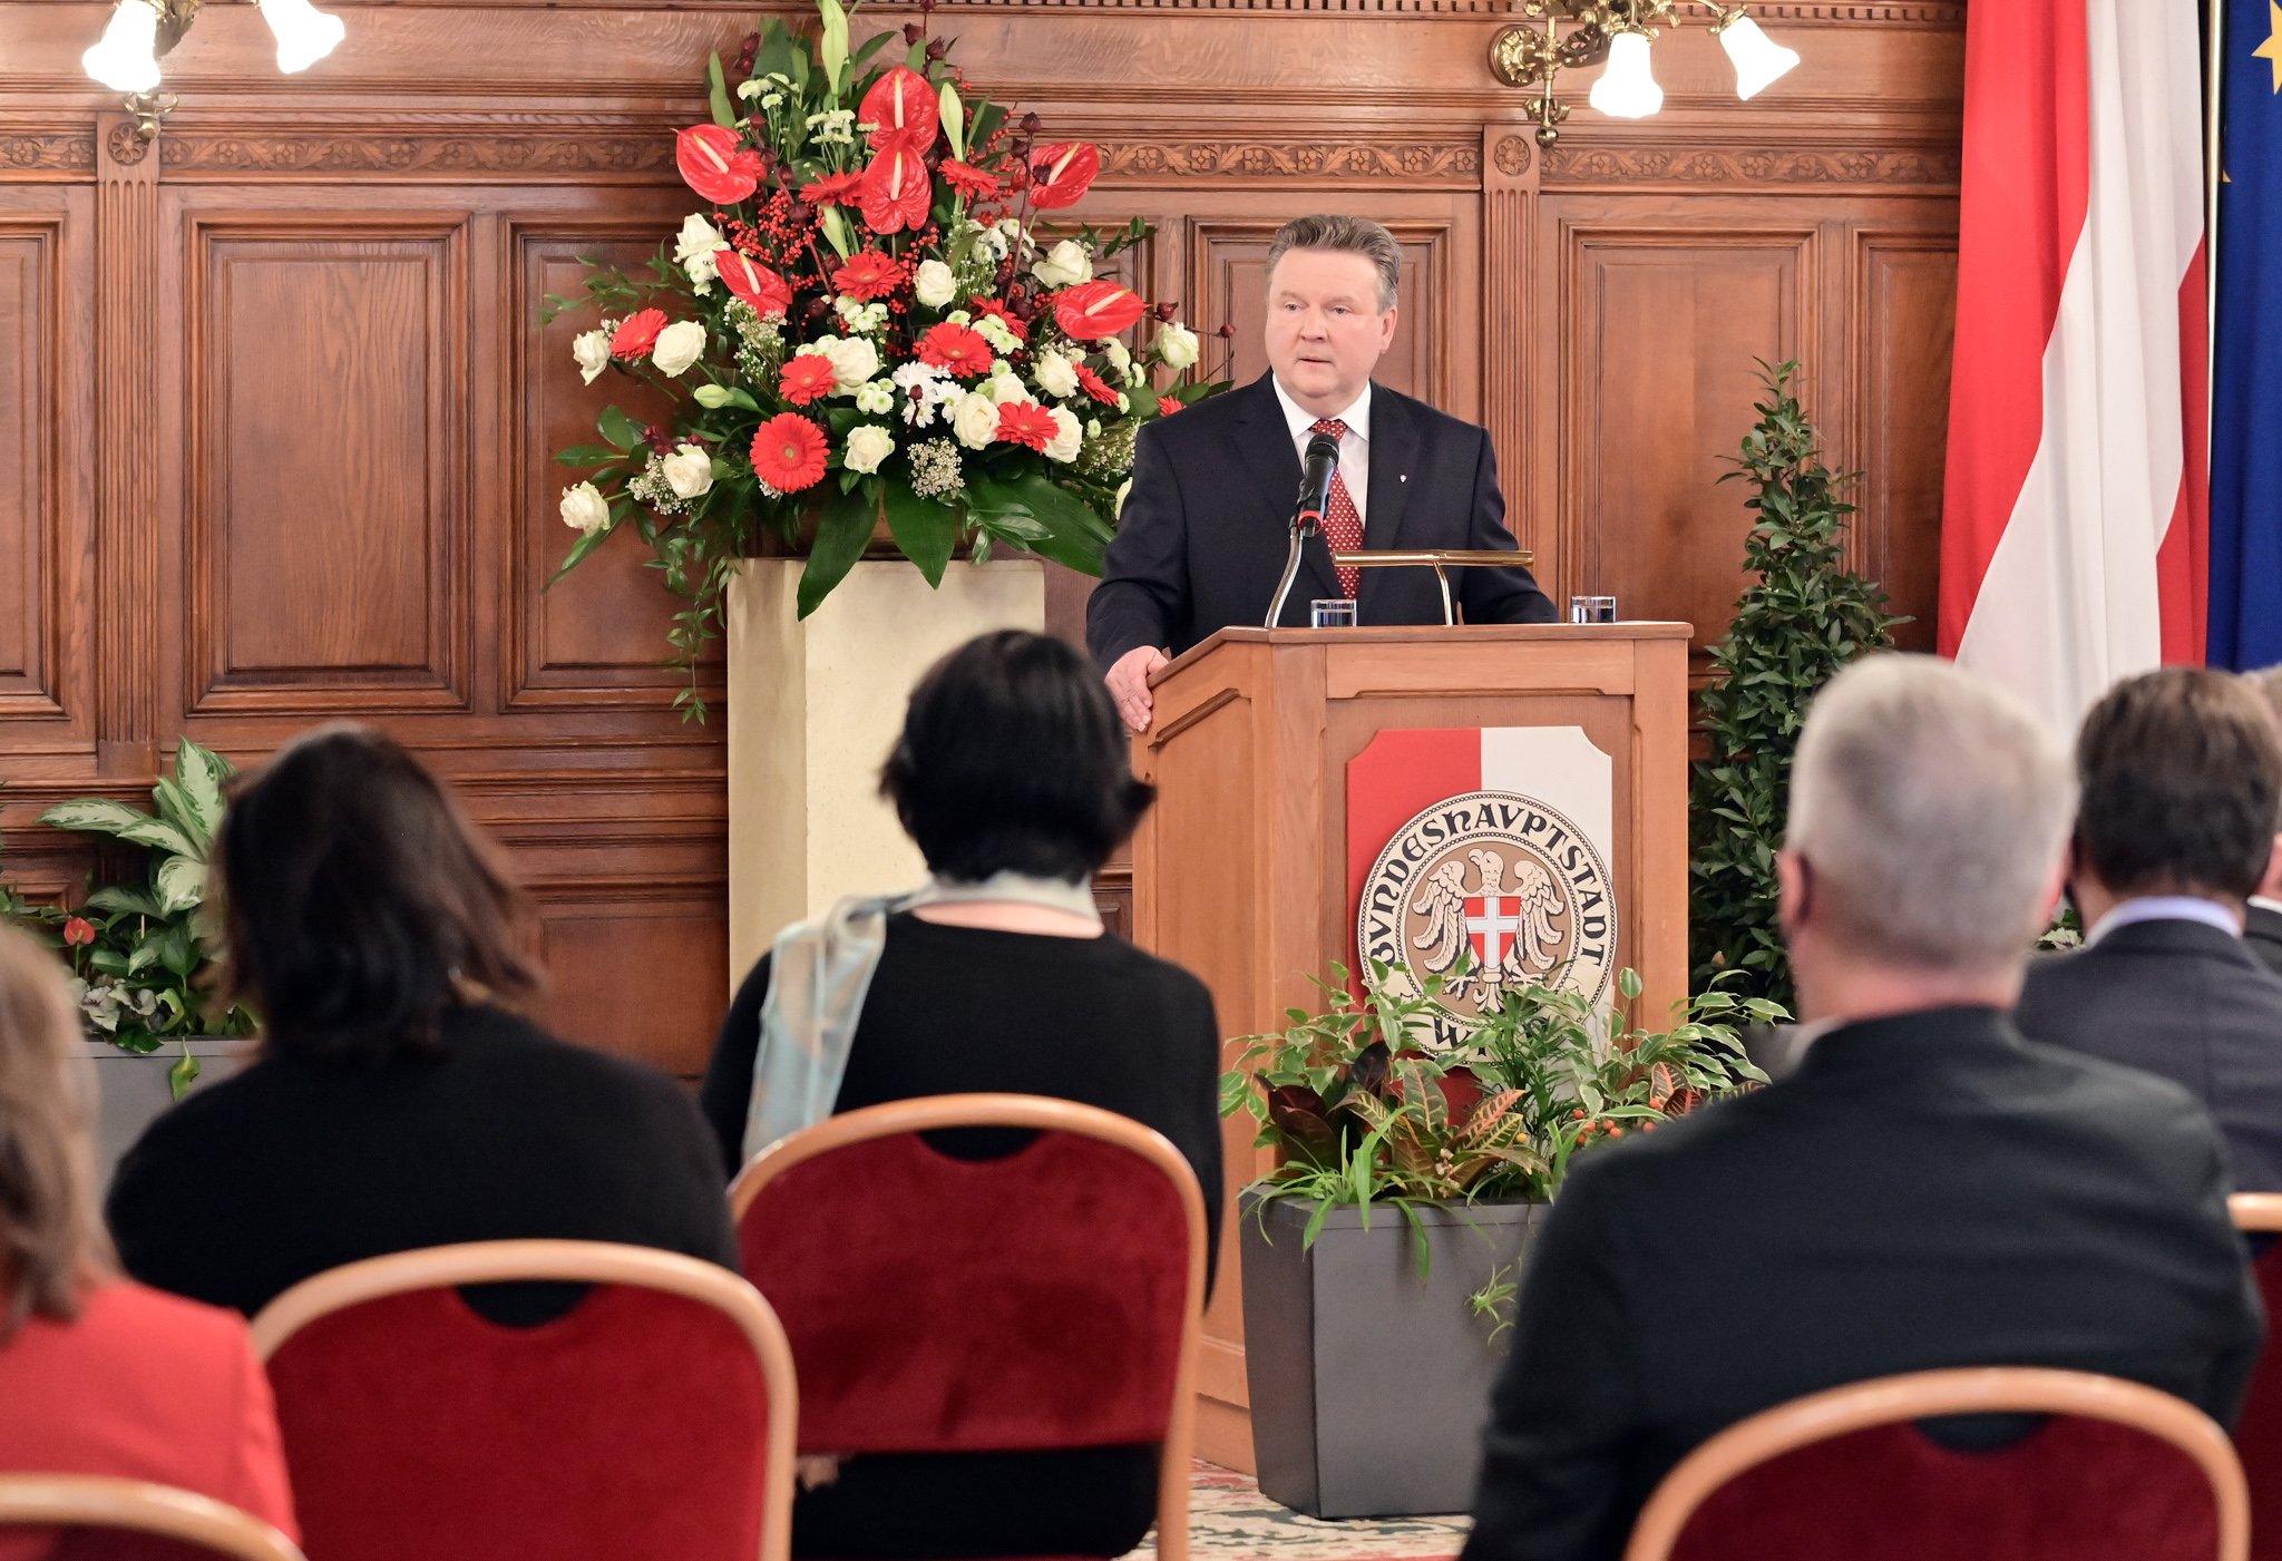
[[[1157,1461],[1157,1556],[1159,1561],[1189,1561],[1189,1449],[1196,1442],[1196,1351],[1205,1317],[1205,1196],[1196,1184],[1196,1171],[1187,1157],[1173,1148],[1155,1127],[1077,1105],[1075,1100],[1050,1100],[1045,1095],[924,1095],[917,1100],[890,1100],[860,1111],[828,1116],[803,1132],[787,1134],[753,1155],[728,1189],[730,1216],[742,1226],[744,1212],[760,1196],[760,1189],[819,1155],[892,1139],[906,1132],[938,1132],[942,1127],[1031,1127],[1038,1132],[1073,1132],[1100,1139],[1164,1171],[1180,1194],[1180,1207],[1189,1221],[1189,1299],[1180,1319],[1180,1365],[1173,1372],[1173,1413],[1164,1426],[1164,1451]]]

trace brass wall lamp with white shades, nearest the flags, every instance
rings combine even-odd
[[[1561,7],[1577,27],[1565,37],[1549,11]],[[1490,39],[1490,71],[1508,87],[1536,87],[1522,110],[1538,126],[1538,144],[1561,139],[1568,103],[1554,98],[1554,75],[1570,66],[1607,62],[1586,98],[1602,114],[1643,119],[1664,107],[1664,89],[1648,68],[1648,43],[1657,23],[1677,27],[1677,0],[1527,0],[1524,16],[1545,16],[1540,27],[1513,25]],[[1743,7],[1712,2],[1712,37],[1734,62],[1734,94],[1750,98],[1778,75],[1798,64],[1798,52],[1782,48],[1759,30]]]

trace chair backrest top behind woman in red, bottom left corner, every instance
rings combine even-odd
[[[89,1561],[185,1552],[304,1561],[290,1538],[253,1513],[194,1490],[107,1474],[0,1474],[0,1552],[9,1531],[23,1529],[64,1529],[62,1547],[48,1554]]]

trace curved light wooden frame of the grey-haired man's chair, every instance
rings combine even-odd
[[[2236,1463],[2227,1433],[2193,1404],[2093,1372],[1963,1367],[1878,1376],[1739,1420],[1664,1477],[1632,1527],[1625,1561],[1666,1561],[1705,1497],[1769,1458],[1848,1431],[1933,1415],[2083,1415],[2161,1438],[2193,1458],[2211,1481],[2218,1499],[2214,1561],[2245,1561],[2250,1554],[2250,1488],[2243,1465]]]

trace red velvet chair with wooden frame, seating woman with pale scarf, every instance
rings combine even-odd
[[[920,1139],[940,1127],[1041,1137],[954,1159]],[[803,1454],[1159,1442],[1157,1556],[1187,1561],[1205,1200],[1162,1134],[1034,1095],[897,1100],[771,1143],[730,1207]]]

